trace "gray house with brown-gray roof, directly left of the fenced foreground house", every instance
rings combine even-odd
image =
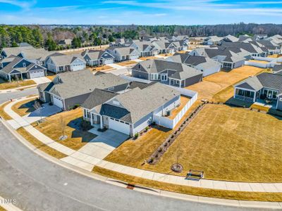
[[[129,82],[111,73],[90,70],[63,72],[52,82],[39,84],[39,99],[44,103],[53,103],[62,110],[81,105],[94,89],[118,92],[127,89]]]

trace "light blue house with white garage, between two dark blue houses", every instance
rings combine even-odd
[[[80,55],[49,56],[46,61],[47,70],[59,73],[66,71],[78,71],[86,68],[86,62]]]

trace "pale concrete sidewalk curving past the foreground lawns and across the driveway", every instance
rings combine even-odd
[[[25,99],[26,98],[23,98],[22,100]],[[128,174],[133,177],[141,177],[143,179],[150,179],[154,181],[162,181],[169,184],[192,186],[198,188],[213,188],[225,191],[282,193],[282,183],[247,183],[234,181],[217,181],[209,179],[200,179],[199,181],[188,180],[185,179],[185,177],[179,177],[171,174],[161,174],[147,170],[140,170],[125,165],[119,165],[113,162],[108,162],[106,160],[102,160],[103,156],[100,158],[96,158],[92,156],[91,153],[85,153],[85,148],[82,150],[84,152],[73,151],[71,148],[67,148],[61,143],[57,143],[54,140],[49,139],[49,137],[45,136],[34,127],[30,126],[28,122],[23,120],[22,117],[20,117],[18,114],[14,113],[13,110],[11,110],[11,104],[13,105],[13,103],[15,102],[8,104],[8,106],[4,108],[5,112],[8,113],[8,115],[10,115],[16,122],[18,122],[18,124],[23,125],[23,128],[26,129],[27,132],[30,132],[32,136],[35,136],[39,141],[42,141],[42,143],[47,144],[49,147],[68,155],[68,157],[63,158],[61,160],[68,162],[71,165],[80,167],[84,170],[91,172],[94,165],[97,165],[107,170]],[[88,144],[89,146],[91,145],[91,143]]]

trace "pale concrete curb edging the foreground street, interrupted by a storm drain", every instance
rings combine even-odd
[[[111,179],[109,177],[104,177],[99,174],[94,174],[92,172],[88,172],[87,170],[82,170],[80,167],[75,167],[71,164],[68,164],[66,162],[63,162],[61,160],[58,160],[51,155],[48,155],[47,153],[44,153],[43,151],[38,150],[33,146],[31,143],[26,141],[20,134],[18,134],[9,124],[6,122],[6,120],[1,120],[4,124],[4,126],[15,136],[21,143],[23,143],[24,146],[30,149],[30,151],[33,151],[37,155],[41,156],[42,158],[49,160],[50,162],[55,163],[56,165],[60,165],[61,167],[64,167],[68,170],[71,170],[73,172],[76,172],[78,174],[82,174],[85,177],[90,177],[92,179],[96,179],[99,181],[104,181],[107,184],[113,184],[122,188],[127,188],[128,184],[124,181],[119,181],[117,179]],[[148,188],[145,186],[135,186],[133,188],[134,191],[142,192],[142,193],[149,193],[152,195],[157,196],[164,196],[169,198],[175,198],[178,200],[188,200],[196,203],[208,203],[213,205],[226,205],[231,207],[252,207],[252,208],[268,208],[268,209],[282,209],[282,203],[278,202],[261,202],[261,201],[247,201],[247,200],[229,200],[229,199],[221,199],[221,198],[209,198],[209,197],[202,197],[202,196],[192,196],[187,195],[183,193],[175,193],[170,191],[163,191],[159,189],[154,188]]]

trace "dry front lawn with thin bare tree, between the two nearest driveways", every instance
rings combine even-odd
[[[72,148],[73,150],[78,151],[80,148],[82,148],[82,146],[85,146],[87,142],[96,137],[90,132],[82,132],[69,125],[70,122],[78,120],[81,117],[82,110],[81,108],[77,108],[75,110],[70,110],[63,113],[58,113],[51,117],[47,117],[46,121],[40,123],[38,126],[37,123],[33,123],[32,126],[38,129],[39,132],[42,132],[42,134],[49,136],[50,139],[53,139],[54,141],[67,146],[68,148]],[[63,119],[64,125],[66,126],[64,130],[65,135],[68,136],[68,138],[63,141],[59,140],[60,136],[62,136],[63,134],[61,118]]]

